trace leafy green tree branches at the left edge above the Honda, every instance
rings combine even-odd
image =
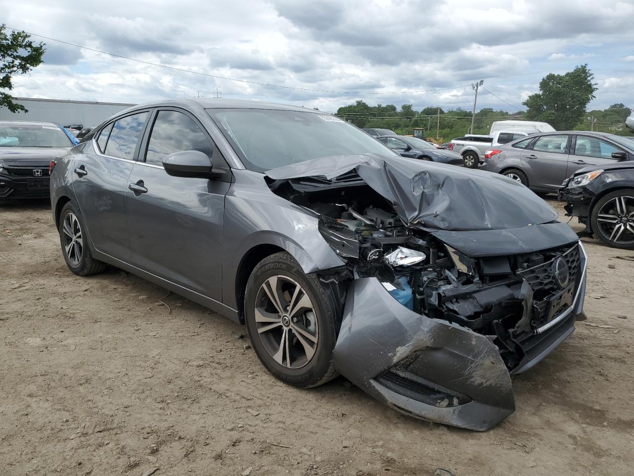
[[[13,31],[6,34],[4,23],[0,25],[0,89],[11,91],[11,76],[25,74],[42,62],[44,43],[39,45],[30,41],[29,34]],[[0,91],[0,107],[7,107],[11,112],[27,109],[22,104],[13,102],[13,97]]]

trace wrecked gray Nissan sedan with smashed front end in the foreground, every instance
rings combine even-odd
[[[113,265],[245,324],[297,387],[340,373],[410,416],[486,430],[515,409],[511,375],[583,312],[585,252],[545,201],[316,110],[141,104],[51,169],[70,271]]]

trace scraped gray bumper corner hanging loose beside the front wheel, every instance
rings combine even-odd
[[[414,355],[417,359],[410,367],[414,373],[472,401],[434,406],[375,380]],[[483,431],[515,411],[507,367],[486,336],[408,310],[376,278],[351,283],[334,362],[339,373],[365,392],[425,420]]]

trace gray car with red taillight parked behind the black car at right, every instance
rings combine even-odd
[[[535,192],[555,192],[575,171],[634,160],[634,144],[602,132],[557,131],[499,145],[484,154],[482,170],[501,173]]]

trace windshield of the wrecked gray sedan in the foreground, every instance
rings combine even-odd
[[[326,114],[293,110],[207,109],[245,167],[266,172],[330,155],[395,155],[375,138]]]

